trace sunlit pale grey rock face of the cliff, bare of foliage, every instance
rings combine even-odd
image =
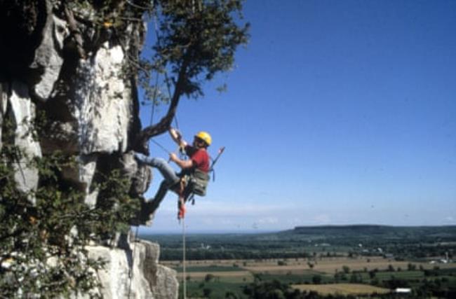
[[[18,158],[15,181],[22,192],[33,190],[38,172],[21,165],[60,151],[76,155],[76,169],[63,169],[62,175],[85,194],[90,207],[98,201],[95,173],[112,168],[128,177],[130,192],[141,197],[152,174],[133,158],[141,129],[139,101],[135,76],[125,69],[138,58],[145,24],[118,31],[94,27],[90,13],[69,15],[60,7],[64,2],[0,2],[0,137],[11,121],[13,142],[27,154]],[[36,141],[26,133],[41,112],[48,122]],[[88,251],[108,262],[98,273],[103,287],[95,290],[105,298],[177,298],[175,272],[158,264],[157,244],[126,242],[123,248],[90,246]]]

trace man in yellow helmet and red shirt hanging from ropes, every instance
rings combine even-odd
[[[169,189],[180,188],[180,178],[185,174],[193,174],[196,171],[207,174],[210,169],[209,155],[206,148],[212,143],[212,138],[208,132],[199,132],[194,136],[192,146],[183,140],[177,130],[170,128],[169,134],[173,141],[181,148],[185,149],[185,153],[189,156],[189,160],[181,160],[175,153],[170,153],[170,161],[175,162],[180,167],[181,172],[177,174],[163,158],[140,158],[140,162],[159,169],[163,176],[163,181],[153,200],[146,204],[146,214],[152,214],[158,207]]]

